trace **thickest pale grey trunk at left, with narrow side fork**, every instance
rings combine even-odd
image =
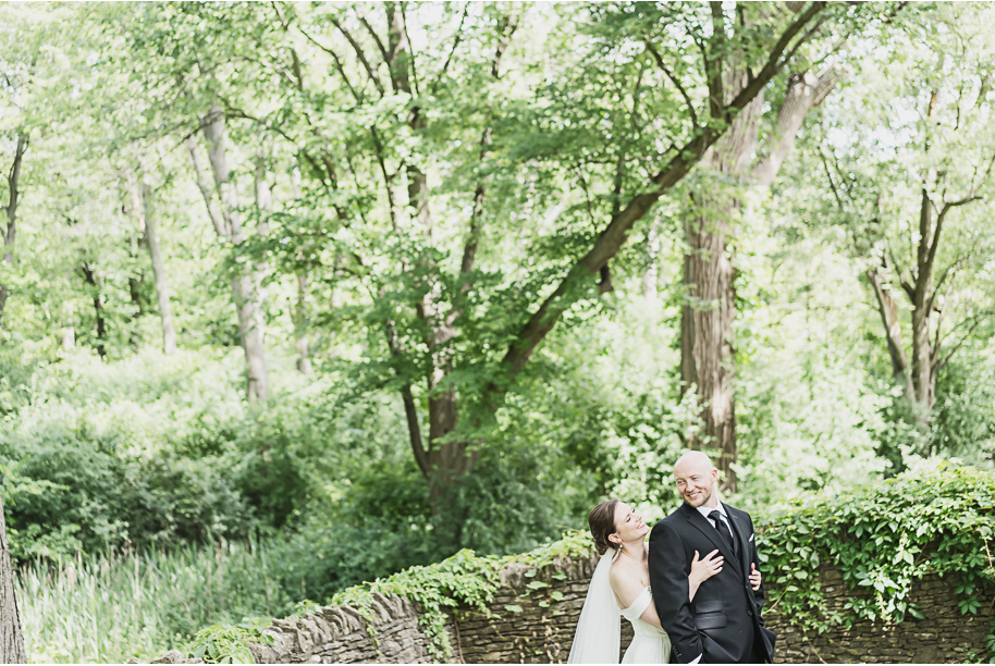
[[[213,197],[208,198],[205,195],[208,213],[211,215],[214,229],[221,227],[224,231],[225,239],[237,247],[245,240],[245,235],[238,212],[238,193],[228,164],[226,128],[221,109],[213,106],[204,119],[202,124],[204,136],[208,141],[208,159],[214,175],[214,186],[221,200],[221,206],[219,207],[220,215],[216,218],[210,203]],[[194,168],[197,170],[196,145],[192,148],[191,156],[194,158]],[[206,182],[202,174],[197,174],[197,182]],[[205,189],[201,187],[201,193],[204,192]],[[235,310],[238,314],[238,335],[242,341],[242,348],[245,351],[246,393],[248,399],[255,402],[267,398],[269,382],[266,371],[266,357],[263,355],[266,343],[262,303],[258,289],[255,288],[255,280],[250,274],[253,272],[251,270],[243,269],[242,272],[236,271],[234,273],[232,276],[232,299],[235,303]]]

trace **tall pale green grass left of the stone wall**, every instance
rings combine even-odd
[[[30,562],[16,583],[28,659],[149,661],[211,624],[287,615],[279,551],[253,541]]]

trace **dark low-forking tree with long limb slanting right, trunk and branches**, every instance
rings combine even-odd
[[[332,20],[343,39],[343,45],[346,46],[346,52],[352,51],[355,55],[355,66],[352,71],[365,81],[365,84],[348,78],[349,70],[342,65],[346,58],[341,55],[333,46],[321,42],[321,47],[333,55],[340,75],[347,83],[347,88],[353,90],[357,103],[368,102],[366,96],[372,96],[374,99],[385,98],[388,90],[392,90],[395,96],[402,96],[403,99],[409,99],[404,116],[406,134],[428,143],[421,137],[431,136],[433,126],[422,106],[428,106],[432,101],[430,95],[432,77],[425,70],[416,69],[418,58],[411,52],[411,42],[407,38],[404,5],[388,4],[384,9],[386,16],[381,25],[386,26],[385,38],[376,36],[371,17],[352,17],[342,13]],[[716,150],[721,150],[721,147],[713,146],[729,131],[729,125],[736,127],[737,124],[744,122],[753,122],[750,120],[752,118],[751,109],[759,108],[761,102],[758,101],[758,96],[763,88],[785,66],[800,44],[818,29],[823,15],[826,20],[831,15],[825,13],[825,5],[821,3],[806,5],[803,11],[798,14],[774,11],[759,17],[758,21],[763,21],[764,25],[776,29],[776,38],[758,39],[757,30],[744,30],[742,34],[734,34],[727,39],[725,37],[709,39],[704,35],[715,34],[714,24],[711,22],[704,25],[695,24],[697,16],[693,15],[693,12],[690,12],[691,16],[688,16],[687,13],[681,13],[684,10],[667,7],[651,9],[636,5],[634,9],[636,20],[631,21],[632,25],[625,23],[623,12],[606,11],[599,14],[599,18],[603,21],[602,29],[615,28],[614,33],[603,33],[602,39],[642,44],[643,51],[639,60],[649,61],[652,57],[660,65],[659,76],[663,79],[664,76],[672,75],[665,59],[674,54],[666,51],[661,53],[661,50],[666,47],[658,47],[651,38],[647,37],[646,32],[649,26],[666,24],[665,18],[672,20],[672,25],[683,21],[683,25],[687,26],[686,38],[689,40],[697,38],[702,48],[704,54],[702,62],[697,63],[702,67],[701,72],[711,73],[713,70],[723,72],[722,62],[728,52],[728,44],[733,44],[742,51],[742,63],[736,72],[737,83],[722,88],[712,81],[713,92],[722,94],[717,97],[714,94],[711,96],[709,122],[699,124],[696,119],[691,132],[686,135],[684,148],[675,149],[668,161],[658,168],[648,183],[636,184],[631,175],[626,173],[626,168],[630,162],[646,160],[649,156],[631,152],[618,153],[615,168],[609,174],[607,180],[610,183],[615,183],[613,185],[614,195],[609,205],[607,224],[591,238],[590,245],[586,249],[579,247],[579,251],[573,260],[563,264],[564,268],[560,269],[563,272],[557,279],[537,289],[536,295],[539,296],[537,301],[523,303],[520,306],[523,310],[513,316],[512,321],[515,323],[512,323],[511,330],[505,334],[507,342],[501,345],[504,346],[505,351],[500,360],[495,359],[498,362],[489,370],[489,380],[483,385],[483,392],[477,397],[467,395],[467,387],[460,386],[460,382],[456,379],[459,374],[454,370],[460,366],[460,360],[463,363],[467,360],[457,359],[455,354],[460,346],[467,344],[460,340],[460,336],[466,335],[467,330],[472,329],[472,324],[466,319],[464,304],[467,297],[464,297],[463,294],[479,298],[476,293],[476,275],[474,274],[475,259],[479,252],[480,239],[484,231],[483,221],[489,214],[494,214],[487,208],[486,182],[478,183],[474,192],[474,205],[468,207],[469,224],[467,231],[464,232],[463,251],[459,252],[463,261],[459,262],[458,271],[455,274],[446,275],[431,251],[425,251],[425,254],[411,258],[409,263],[402,264],[403,272],[414,273],[411,288],[418,297],[413,304],[415,318],[411,323],[415,331],[419,332],[418,337],[407,338],[407,336],[398,335],[400,324],[396,320],[386,319],[383,323],[385,337],[395,359],[400,360],[409,356],[413,346],[416,349],[423,349],[423,356],[421,356],[421,360],[417,361],[417,366],[422,368],[425,381],[420,393],[425,396],[423,399],[427,404],[427,437],[425,437],[426,433],[422,431],[416,408],[417,394],[411,383],[414,379],[411,370],[406,363],[398,363],[396,371],[398,379],[403,378],[401,393],[405,411],[408,415],[411,447],[430,488],[433,489],[432,495],[437,506],[442,502],[442,497],[447,496],[447,493],[458,485],[459,479],[472,468],[477,459],[480,442],[472,433],[479,432],[481,428],[481,411],[486,414],[501,405],[503,395],[512,386],[516,375],[526,368],[529,358],[542,340],[564,312],[585,297],[587,285],[595,286],[600,292],[610,288],[607,264],[624,245],[632,226],[647,214],[661,196],[680,182],[703,156],[705,159],[712,159],[710,156],[715,155]],[[742,11],[749,12],[750,10]],[[360,29],[365,29],[373,36],[373,39],[369,40],[369,46],[374,49],[374,53],[379,49],[382,55],[381,64],[378,64],[377,59],[370,57],[366,51],[365,45],[360,44],[348,25],[349,21],[355,22],[357,26],[361,26]],[[622,29],[615,27],[619,23]],[[498,17],[494,25],[493,51],[489,60],[489,70],[493,79],[498,81],[502,57],[507,49],[508,40],[514,35],[517,20],[507,16]],[[597,25],[594,29],[598,29]],[[655,29],[659,30],[659,27]],[[725,28],[723,28],[723,35],[724,30]],[[651,33],[651,35],[653,34]],[[308,36],[312,41],[318,42],[314,35],[308,34]],[[459,45],[458,34],[454,42],[452,52],[456,52]],[[747,52],[750,53],[748,62]],[[761,52],[762,55],[758,57],[758,52]],[[697,74],[696,63],[681,54],[677,54],[675,59],[679,58],[684,58],[679,60],[686,70],[683,74],[689,82],[693,81]],[[443,74],[446,73],[446,67],[452,61],[451,54],[442,64]],[[378,72],[380,66],[389,75],[389,85],[384,85]],[[636,64],[631,70],[638,73],[644,71],[644,66]],[[420,73],[420,88],[416,84],[418,73]],[[643,75],[638,74],[638,76]],[[679,81],[676,82],[676,87],[681,94],[686,95],[686,88],[690,87],[689,82],[688,86],[683,85]],[[648,82],[637,84],[637,86],[639,85],[648,85]],[[723,91],[725,89],[728,90],[728,94]],[[637,115],[650,112],[640,108],[638,100],[635,101],[634,108]],[[569,112],[566,109],[564,111]],[[693,104],[689,108],[689,113],[696,118]],[[489,114],[484,114],[483,118],[484,122],[479,125],[481,138],[478,140],[478,145],[480,146],[481,166],[477,168],[478,172],[482,172],[488,165],[487,158],[494,133],[494,127],[490,123],[499,120]],[[394,184],[398,175],[403,173],[407,183],[408,211],[405,218],[413,225],[410,233],[420,235],[419,243],[423,246],[435,247],[438,244],[433,243],[437,231],[431,205],[432,187],[426,170],[419,166],[419,163],[429,156],[418,152],[408,159],[400,160],[398,170],[388,169],[386,164],[391,156],[386,152],[383,141],[376,135],[378,130],[374,127],[372,131],[374,133],[373,150],[377,152],[377,161],[381,165],[386,206],[392,219],[395,223],[401,219],[395,207],[400,197]],[[435,131],[438,132],[438,130]],[[507,137],[503,138],[507,140]],[[626,198],[625,185],[641,192]],[[495,310],[500,310],[505,306],[494,304],[493,307]],[[490,319],[500,321],[496,311],[490,316]],[[474,410],[475,402],[478,407],[476,411]],[[463,409],[467,417],[464,421],[460,421],[459,418],[460,405],[464,405]]]

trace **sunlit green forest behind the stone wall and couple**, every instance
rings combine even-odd
[[[658,519],[688,447],[759,513],[991,470],[993,11],[0,5],[28,655]]]

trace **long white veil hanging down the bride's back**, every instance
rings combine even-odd
[[[617,664],[622,645],[622,612],[612,592],[614,551],[606,551],[591,576],[588,596],[577,620],[567,664]]]

